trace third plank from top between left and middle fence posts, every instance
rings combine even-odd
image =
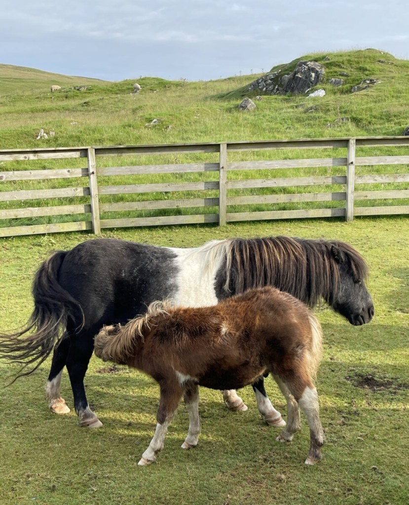
[[[161,182],[157,184],[100,186],[99,194],[166,193],[168,191],[198,191],[205,189],[219,189],[219,181]]]

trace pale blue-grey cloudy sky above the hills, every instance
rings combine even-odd
[[[0,63],[109,81],[207,81],[368,47],[409,58],[405,0],[0,0]]]

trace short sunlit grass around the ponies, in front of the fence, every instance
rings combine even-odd
[[[200,389],[202,433],[191,450],[183,405],[170,425],[158,463],[138,467],[156,425],[156,382],[93,357],[85,384],[91,408],[104,426],[79,428],[73,411],[48,412],[44,384],[49,363],[4,387],[17,367],[0,364],[0,501],[98,505],[144,503],[307,505],[407,503],[409,479],[409,225],[407,218],[356,218],[138,228],[104,236],[174,247],[211,239],[290,235],[340,239],[359,250],[370,267],[367,283],[374,320],[354,327],[327,308],[315,313],[323,326],[324,356],[318,372],[320,417],[326,432],[323,460],[304,465],[309,430],[289,444],[265,425],[250,387],[240,390],[249,409],[228,411],[218,391]],[[40,262],[54,249],[90,238],[85,233],[0,240],[0,330],[23,326],[32,310],[30,286]],[[287,417],[285,400],[271,379],[266,388]],[[73,406],[67,374],[62,393]]]

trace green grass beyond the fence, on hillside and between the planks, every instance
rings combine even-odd
[[[329,56],[330,60],[324,58]],[[89,84],[85,78],[57,76],[34,69],[0,66],[0,149],[35,148],[81,145],[132,145],[184,142],[221,142],[240,140],[268,140],[291,138],[348,137],[399,135],[407,126],[409,117],[409,91],[406,85],[409,62],[398,60],[376,49],[342,53],[317,53],[304,55],[282,68],[289,73],[299,60],[317,60],[326,68],[324,87],[327,94],[322,98],[305,96],[264,96],[252,113],[240,113],[237,106],[247,92],[243,89],[260,75],[234,76],[214,81],[187,82],[167,81],[156,77],[137,79],[142,86],[138,94],[132,93],[135,79],[121,82],[92,82],[86,91],[71,89],[73,85]],[[345,83],[340,87],[328,84],[332,77],[346,72]],[[60,79],[58,79],[60,77]],[[376,78],[380,82],[370,89],[351,93],[352,86],[365,78]],[[13,87],[7,83],[13,80]],[[33,79],[34,84],[29,80]],[[63,90],[49,91],[49,83],[60,83]],[[251,95],[251,93],[250,93]],[[159,122],[151,124],[153,119]],[[342,119],[342,121],[341,121]],[[55,131],[55,136],[36,140],[40,128]],[[373,147],[357,149],[356,156],[406,154],[403,147]],[[296,152],[283,149],[265,152],[253,151],[229,154],[229,161],[246,161],[273,158],[316,158],[345,156],[343,149],[305,149]],[[161,157],[123,157],[98,159],[100,166],[119,166],[152,163],[195,163],[217,161],[216,155],[166,155]],[[84,160],[1,162],[0,171],[35,170],[43,168],[70,168],[85,166]],[[404,165],[381,167],[357,167],[357,174],[406,173]],[[344,168],[300,169],[279,171],[254,171],[253,178],[285,177],[297,173],[300,176],[343,174]],[[246,176],[249,174],[247,173]],[[206,180],[215,174],[207,173]],[[229,178],[244,178],[239,172],[229,173]],[[202,174],[179,176],[177,180],[200,180]],[[132,184],[149,183],[154,180],[169,181],[169,176],[111,177],[106,183]],[[104,182],[104,181],[103,181]],[[0,190],[46,189],[52,187],[83,186],[86,180],[53,180],[1,183]],[[404,183],[359,185],[356,190],[365,189],[403,189]],[[343,190],[342,187],[300,187],[268,188],[257,190],[258,194],[274,192],[308,192]],[[254,190],[230,190],[229,196],[252,194]],[[188,196],[213,196],[212,192],[190,192]],[[173,193],[173,198],[187,197],[185,193]],[[111,196],[101,196],[101,201],[111,201]],[[143,195],[120,195],[118,201],[138,199],[160,199],[164,193]],[[115,199],[115,198],[114,198]],[[83,203],[87,198],[65,199],[64,203]],[[0,208],[36,207],[42,205],[61,205],[62,200],[26,200],[0,203]],[[368,205],[407,205],[407,199],[363,200],[359,206]],[[339,207],[340,201],[307,204],[310,208]],[[296,209],[296,204],[277,204],[269,206],[248,206],[246,211]],[[304,205],[305,208],[305,205]],[[237,210],[235,207],[230,210]],[[150,211],[121,213],[119,217],[172,215],[191,213],[186,210]],[[196,213],[213,213],[214,209],[196,209]],[[23,218],[23,220],[2,220],[0,227],[24,224],[45,224],[68,221],[68,216],[43,218]],[[88,217],[77,216],[84,220]]]

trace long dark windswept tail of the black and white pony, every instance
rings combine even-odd
[[[63,338],[69,319],[83,321],[78,301],[58,282],[66,254],[67,251],[55,252],[37,270],[32,286],[34,310],[26,327],[11,334],[0,333],[0,359],[22,365],[12,383],[34,372],[46,360]]]

